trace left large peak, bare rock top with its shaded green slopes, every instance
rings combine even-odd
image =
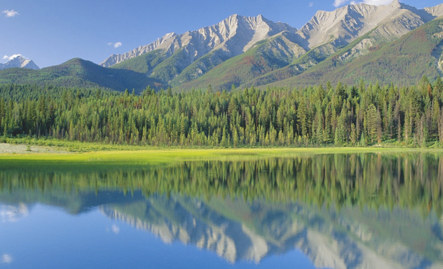
[[[233,15],[213,26],[182,35],[170,33],[129,53],[111,55],[101,65],[147,73],[177,86],[244,53],[257,41],[283,31],[295,33],[296,29],[280,22],[274,23],[261,15]]]

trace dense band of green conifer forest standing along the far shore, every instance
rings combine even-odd
[[[140,95],[1,85],[0,135],[179,147],[443,144],[443,82]]]

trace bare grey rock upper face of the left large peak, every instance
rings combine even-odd
[[[161,39],[146,46],[140,46],[122,55],[111,55],[100,65],[109,67],[127,59],[149,53],[152,50],[162,50],[167,56],[183,48],[192,59],[206,55],[211,50],[221,49],[229,57],[244,53],[257,41],[269,38],[282,31],[295,33],[296,29],[288,24],[274,23],[259,15],[243,17],[232,15],[213,26],[208,26],[186,32],[182,35],[169,33]],[[193,62],[193,61],[192,61]]]

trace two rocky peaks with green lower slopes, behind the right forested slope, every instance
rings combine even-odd
[[[300,30],[262,15],[233,15],[214,26],[170,33],[128,53],[111,55],[101,65],[145,73],[182,90],[208,84],[215,89],[260,86],[311,71],[344,48],[346,61],[363,57],[441,15],[443,4],[418,10],[397,0],[383,6],[359,3],[318,11]],[[431,72],[431,77],[438,72]],[[368,78],[372,79],[383,80]],[[406,80],[415,82],[417,77]]]

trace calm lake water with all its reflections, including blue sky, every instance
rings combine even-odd
[[[42,170],[0,171],[0,268],[443,268],[441,154]]]

